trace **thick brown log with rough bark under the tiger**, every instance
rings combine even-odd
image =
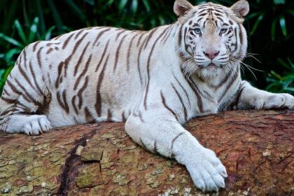
[[[293,110],[227,111],[186,128],[227,168],[219,195],[293,194]],[[1,194],[202,195],[185,167],[134,144],[124,123],[1,133]]]

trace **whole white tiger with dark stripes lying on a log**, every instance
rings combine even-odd
[[[135,142],[186,165],[197,188],[225,188],[215,153],[182,125],[228,109],[293,108],[241,80],[247,1],[232,7],[176,0],[179,20],[151,31],[91,27],[22,51],[0,99],[0,130],[40,134],[54,127],[125,121]]]

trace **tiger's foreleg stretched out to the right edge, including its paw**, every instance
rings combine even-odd
[[[242,81],[235,109],[293,109],[294,97],[287,93],[259,90]]]

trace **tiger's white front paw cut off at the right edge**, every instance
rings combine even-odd
[[[262,104],[262,109],[293,109],[294,97],[287,93],[273,94]]]

